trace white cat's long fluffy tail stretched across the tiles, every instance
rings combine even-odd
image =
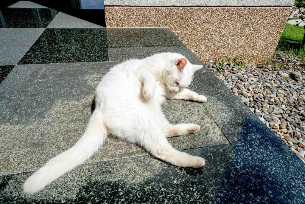
[[[84,135],[65,152],[50,159],[41,169],[30,176],[23,184],[25,193],[35,193],[53,180],[91,157],[103,144],[107,136],[103,116],[99,109],[91,115]]]

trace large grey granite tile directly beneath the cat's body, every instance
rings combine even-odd
[[[16,65],[0,85],[0,173],[37,169],[76,143],[90,117],[96,85],[117,63]],[[170,138],[174,147],[228,143],[202,103],[167,101],[163,109],[172,123],[201,125],[195,134]],[[142,148],[110,136],[89,161],[143,154]]]

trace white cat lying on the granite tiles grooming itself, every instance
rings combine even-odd
[[[23,184],[35,193],[93,155],[107,133],[143,147],[152,156],[182,167],[202,167],[205,160],[174,149],[167,137],[199,131],[197,124],[170,124],[161,110],[166,99],[206,102],[206,97],[186,89],[192,65],[177,53],[160,53],[131,59],[111,68],[96,89],[95,110],[84,135],[70,149],[50,159]]]

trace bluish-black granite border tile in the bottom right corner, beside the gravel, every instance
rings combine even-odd
[[[246,163],[274,203],[303,203],[305,165],[277,138],[235,143]]]

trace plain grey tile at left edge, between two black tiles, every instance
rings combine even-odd
[[[43,28],[0,28],[0,65],[16,65]]]

